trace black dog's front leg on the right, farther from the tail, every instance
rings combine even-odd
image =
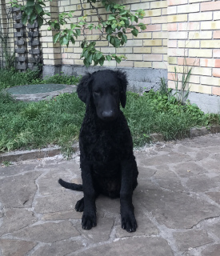
[[[134,217],[134,206],[132,204],[133,194],[133,170],[130,161],[122,162],[122,184],[120,190],[122,229],[134,232],[137,222]]]

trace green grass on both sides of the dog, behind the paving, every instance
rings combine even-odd
[[[0,72],[1,75],[1,72]],[[78,78],[56,75],[48,78],[58,83],[74,84]],[[29,76],[30,78],[30,76]],[[19,84],[42,82],[37,77],[27,82],[17,79]],[[18,85],[14,82],[13,86]],[[2,86],[2,87],[1,87]],[[1,79],[0,90],[9,87]],[[85,105],[76,93],[61,94],[50,101],[17,102],[0,92],[0,153],[8,150],[34,149],[44,146],[62,146],[66,154],[78,140],[78,133],[85,114]],[[161,133],[166,140],[186,137],[194,126],[219,124],[219,115],[204,114],[189,102],[182,106],[167,94],[154,93],[139,96],[127,93],[126,115],[134,146],[149,141],[150,133]]]

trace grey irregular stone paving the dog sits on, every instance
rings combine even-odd
[[[121,228],[119,199],[97,199],[98,226],[82,230],[78,153],[0,166],[0,256],[219,256],[220,134],[135,151],[138,230]]]

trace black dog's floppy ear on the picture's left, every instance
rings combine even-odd
[[[91,77],[92,76],[90,73],[84,75],[77,86],[78,98],[80,98],[82,102],[86,103],[86,105],[88,105],[90,102],[90,83],[92,82]]]

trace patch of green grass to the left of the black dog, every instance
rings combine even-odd
[[[49,144],[70,149],[85,113],[75,93],[42,102],[14,102],[0,94],[0,109],[0,152]]]

